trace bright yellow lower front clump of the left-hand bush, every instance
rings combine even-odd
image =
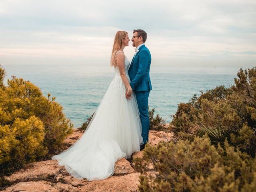
[[[46,154],[43,122],[36,116],[26,120],[16,118],[11,126],[0,125],[0,164],[12,158],[23,161]]]

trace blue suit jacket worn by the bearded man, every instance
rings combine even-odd
[[[152,90],[149,77],[151,55],[145,45],[139,48],[129,67],[130,85],[134,91]]]

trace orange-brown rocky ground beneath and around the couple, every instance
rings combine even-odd
[[[166,125],[168,126],[168,125]],[[76,129],[64,144],[66,148],[74,144],[83,132]],[[149,132],[149,144],[155,146],[160,141],[172,139],[171,133],[164,131]],[[142,157],[143,151],[133,154],[134,157]],[[132,161],[131,161],[132,162]],[[100,181],[87,181],[77,179],[58,166],[56,160],[40,161],[28,164],[25,168],[6,176],[12,185],[6,187],[6,192],[137,192],[140,174],[136,172],[131,162],[122,158],[115,164],[114,175]]]

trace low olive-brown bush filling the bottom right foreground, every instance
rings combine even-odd
[[[207,136],[146,145],[143,158],[134,162],[142,174],[140,192],[253,192],[256,187],[256,159],[227,141],[216,148]]]

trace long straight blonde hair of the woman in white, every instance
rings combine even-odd
[[[110,58],[110,66],[116,67],[116,52],[121,49],[122,47],[122,41],[126,37],[128,33],[126,31],[118,31],[116,32],[112,54]]]

